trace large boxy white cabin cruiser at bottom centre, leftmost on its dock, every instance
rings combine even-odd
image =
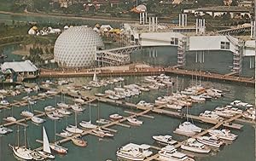
[[[150,146],[148,145],[137,145],[134,143],[129,143],[124,147],[121,147],[117,152],[116,155],[119,158],[124,158],[128,160],[144,160],[144,158],[149,157],[152,155],[153,152],[149,151],[148,149]]]

